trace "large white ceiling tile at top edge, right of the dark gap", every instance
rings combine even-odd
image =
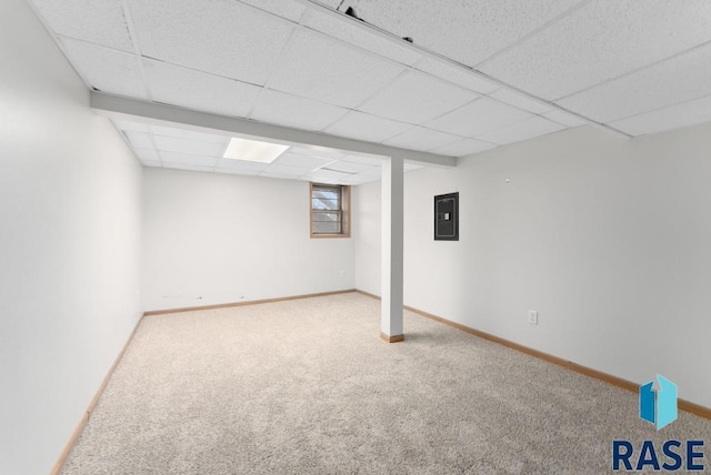
[[[580,0],[358,0],[360,18],[398,37],[474,65],[563,13]]]

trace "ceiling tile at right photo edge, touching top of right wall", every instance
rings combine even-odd
[[[645,135],[708,121],[711,121],[711,95],[622,119],[610,125],[630,135]]]

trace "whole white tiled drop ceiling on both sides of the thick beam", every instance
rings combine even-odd
[[[93,90],[407,150],[464,156],[583,124],[634,138],[711,121],[707,0],[29,2]],[[222,133],[116,124],[147,166],[379,175],[342,150],[294,145],[260,166],[222,159]]]

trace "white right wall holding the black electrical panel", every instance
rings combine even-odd
[[[583,128],[405,174],[405,304],[711,406],[710,151],[710,124]],[[434,242],[433,195],[454,191],[460,241]],[[356,286],[378,294],[379,193],[356,193]]]

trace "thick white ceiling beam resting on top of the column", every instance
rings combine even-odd
[[[202,132],[209,130],[212,133],[221,132],[230,137],[237,134],[253,139],[268,139],[287,145],[297,143],[339,149],[354,154],[395,156],[435,166],[457,166],[457,159],[453,156],[344,139],[326,133],[290,129],[249,119],[198,112],[101,92],[91,92],[91,108],[98,114],[112,119],[133,120],[156,125],[172,125]]]

